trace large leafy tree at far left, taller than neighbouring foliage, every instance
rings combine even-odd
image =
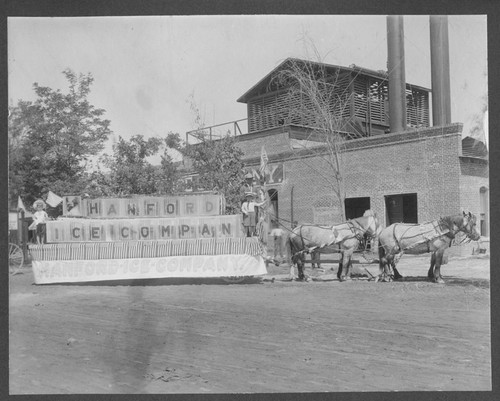
[[[33,84],[34,101],[20,100],[9,117],[9,197],[28,204],[49,190],[79,193],[88,181],[86,163],[104,147],[109,120],[87,99],[91,74],[63,71],[69,91]],[[26,205],[28,206],[28,205]]]

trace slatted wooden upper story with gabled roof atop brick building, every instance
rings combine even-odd
[[[385,71],[286,59],[237,101],[247,104],[248,133],[282,125],[315,128],[317,113],[307,96],[294,90],[296,82],[286,71],[303,68],[317,77],[316,89],[336,120],[336,127],[349,138],[380,135],[389,130],[389,82]],[[285,73],[284,73],[285,72]],[[430,89],[406,84],[408,128],[429,127]],[[310,112],[307,112],[307,110]],[[304,112],[306,110],[306,112]]]

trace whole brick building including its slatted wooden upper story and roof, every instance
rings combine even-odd
[[[258,175],[264,146],[270,176],[267,189],[284,225],[333,224],[341,220],[331,189],[328,147],[311,140],[314,122],[297,118],[286,86],[273,77],[284,61],[238,101],[247,104],[248,133],[237,135],[244,162]],[[321,65],[337,77],[343,94],[346,141],[341,152],[345,216],[372,209],[385,225],[422,223],[470,211],[488,229],[488,160],[474,146],[462,146],[462,124],[429,126],[430,90],[406,84],[407,129],[389,133],[387,74],[357,66]],[[341,77],[340,80],[338,77]],[[332,105],[332,113],[339,108]]]

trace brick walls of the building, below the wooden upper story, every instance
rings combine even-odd
[[[461,156],[461,130],[461,124],[451,124],[348,142],[343,157],[346,217],[372,209],[389,225],[464,210],[481,216],[482,233],[488,235],[488,162]],[[256,175],[265,146],[272,172],[267,189],[282,221],[339,222],[329,180],[319,174],[329,169],[324,153],[291,149],[297,136],[289,126],[249,133],[238,141],[245,164]]]

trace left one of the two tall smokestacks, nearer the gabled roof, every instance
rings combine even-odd
[[[389,124],[391,132],[406,129],[406,79],[403,16],[387,17]]]

